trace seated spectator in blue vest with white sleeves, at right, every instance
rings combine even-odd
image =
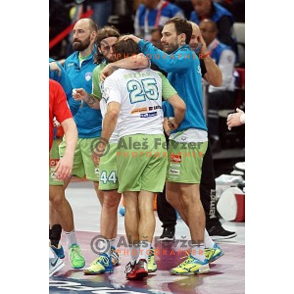
[[[203,20],[199,25],[201,34],[210,56],[221,69],[222,85],[221,87],[209,86],[208,88],[208,130],[212,151],[220,150],[219,135],[219,110],[231,109],[235,101],[235,52],[218,39],[218,28],[216,23],[211,20]]]

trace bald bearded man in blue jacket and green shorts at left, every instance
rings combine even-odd
[[[75,50],[65,61],[65,71],[68,74],[73,88],[83,88],[88,93],[92,92],[92,72],[96,67],[94,63],[95,52],[94,42],[97,36],[98,27],[96,23],[88,18],[80,19],[73,27],[73,49]],[[86,178],[94,182],[94,187],[99,200],[98,191],[99,169],[92,160],[91,143],[98,142],[101,135],[102,117],[100,110],[91,108],[89,99],[79,102],[80,106],[73,119],[78,131],[78,141],[74,152],[72,175],[79,178]],[[66,148],[65,140],[59,146],[59,153],[62,157]],[[64,180],[64,188],[70,182],[70,178]],[[101,200],[100,200],[101,202]],[[50,226],[58,224],[55,211],[50,208]],[[56,226],[54,226],[55,228]],[[50,231],[49,231],[50,233]],[[56,232],[51,231],[56,236]],[[49,236],[50,237],[50,236]],[[85,259],[77,245],[75,232],[66,232],[69,247],[69,259],[74,269],[81,269],[85,266]]]

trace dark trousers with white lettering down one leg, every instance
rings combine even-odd
[[[202,174],[200,180],[200,199],[206,217],[206,228],[220,224],[216,213],[216,182],[212,161],[210,144],[203,157]],[[157,214],[162,222],[162,227],[174,227],[176,225],[176,213],[172,205],[166,199],[166,190],[157,194]]]

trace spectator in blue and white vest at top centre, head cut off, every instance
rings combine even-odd
[[[173,16],[185,18],[183,11],[176,5],[164,0],[141,0],[135,17],[135,35],[151,40],[151,31],[164,25]]]

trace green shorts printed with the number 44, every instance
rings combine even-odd
[[[100,157],[99,190],[117,190],[119,187],[117,176],[117,143],[109,143],[110,148],[105,156]]]

